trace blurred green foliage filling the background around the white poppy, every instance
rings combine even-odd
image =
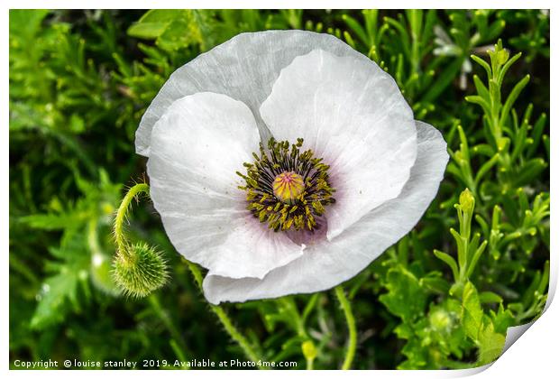
[[[358,330],[353,368],[481,365],[499,355],[506,328],[542,310],[548,12],[12,10],[9,29],[13,368],[15,359],[247,359],[149,201],[134,206],[130,233],[160,246],[171,280],[142,300],[121,296],[111,223],[125,187],[144,178],[134,133],[170,73],[240,32],[266,29],[332,33],[368,55],[452,155],[417,227],[344,284]],[[498,39],[507,50],[491,66],[471,58],[489,62]],[[476,200],[466,239],[481,247],[477,262],[473,250],[459,262],[457,277],[449,228],[459,229],[454,203],[465,188]],[[310,341],[316,368],[344,360],[347,326],[332,292],[222,310],[262,359],[304,368],[301,344]]]

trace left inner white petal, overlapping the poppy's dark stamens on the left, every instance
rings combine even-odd
[[[188,260],[232,278],[261,278],[301,248],[245,209],[235,171],[260,137],[250,109],[208,92],[175,101],[153,128],[151,199],[171,243]]]

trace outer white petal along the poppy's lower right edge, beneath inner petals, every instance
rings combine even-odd
[[[417,162],[397,199],[389,200],[353,224],[334,241],[307,246],[303,256],[262,280],[232,280],[208,273],[206,299],[212,303],[274,298],[324,291],[352,278],[405,236],[426,211],[448,162],[443,136],[417,122]]]

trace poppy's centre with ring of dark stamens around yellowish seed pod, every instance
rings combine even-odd
[[[252,153],[254,162],[243,164],[246,175],[237,171],[246,182],[239,189],[246,191],[247,208],[276,232],[315,231],[325,207],[335,202],[330,167],[312,150],[300,152],[302,145],[302,138],[293,144],[271,138],[267,150],[261,143],[260,155]]]

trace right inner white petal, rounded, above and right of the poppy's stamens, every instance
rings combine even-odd
[[[396,198],[416,161],[413,113],[389,74],[371,60],[315,50],[280,73],[261,117],[278,140],[305,139],[331,166],[336,202],[328,239]]]

